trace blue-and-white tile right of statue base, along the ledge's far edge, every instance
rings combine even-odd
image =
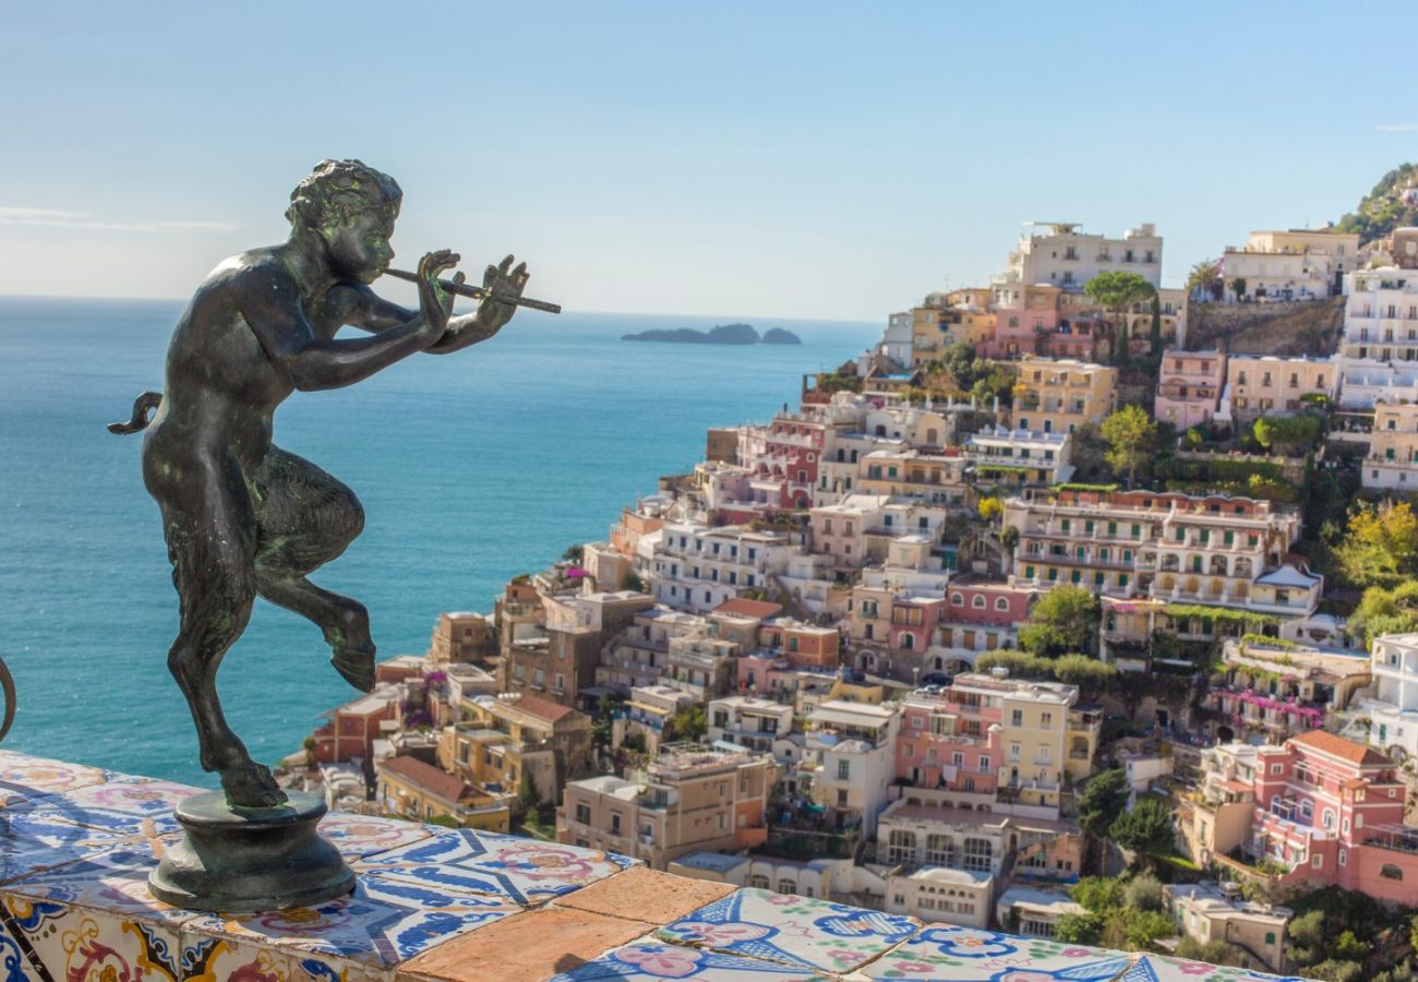
[[[370,856],[354,868],[389,880],[493,893],[527,905],[580,890],[635,861],[594,849],[461,829]]]

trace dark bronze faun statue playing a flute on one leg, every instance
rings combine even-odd
[[[527,282],[510,255],[486,268],[481,291],[462,287],[461,272],[440,281],[458,263],[442,250],[418,263],[417,311],[376,297],[369,284],[394,258],[401,196],[359,160],[316,166],[291,194],[291,237],[211,271],[173,332],[163,392],[143,393],[132,420],[109,427],[146,429],[143,480],[162,509],[182,614],[167,667],[191,707],[201,766],[221,775],[238,809],[286,800],[217,698],[217,668],[257,596],[315,622],[335,668],[359,690],[374,685],[364,606],[306,579],[360,534],[363,509],[347,487],[272,443],[277,407],[296,389],[337,389],[417,352],[486,341]],[[482,302],[454,318],[452,292]],[[372,336],[336,338],[345,325]]]

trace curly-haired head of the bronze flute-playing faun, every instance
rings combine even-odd
[[[336,271],[364,282],[394,257],[389,246],[404,193],[386,173],[359,160],[322,160],[291,192],[292,234],[322,238]]]

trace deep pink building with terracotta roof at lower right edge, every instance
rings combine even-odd
[[[1418,904],[1418,829],[1404,824],[1404,782],[1371,746],[1316,729],[1262,746],[1252,851],[1307,881]]]

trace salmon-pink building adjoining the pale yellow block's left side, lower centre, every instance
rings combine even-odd
[[[1004,759],[1000,722],[1004,710],[913,693],[896,731],[896,776],[917,788],[993,795]]]

